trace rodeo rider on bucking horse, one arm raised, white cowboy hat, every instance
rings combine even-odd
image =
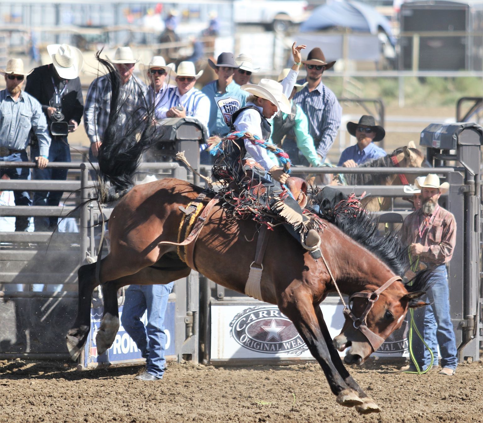
[[[292,46],[294,64],[287,77],[282,83],[271,79],[261,79],[258,85],[245,84],[242,90],[252,94],[247,99],[247,106],[233,113],[231,117],[231,130],[236,132],[249,132],[257,135],[262,140],[270,138],[270,119],[279,110],[290,113],[291,106],[287,98],[294,87],[301,63],[300,50],[305,46]],[[313,257],[320,254],[320,237],[315,229],[307,231],[305,224],[308,219],[302,215],[302,209],[297,201],[281,194],[284,190],[280,184],[284,184],[289,175],[279,167],[276,159],[270,157],[267,150],[259,145],[252,144],[248,139],[244,140],[245,155],[243,156],[243,170],[251,177],[253,185],[263,185],[266,191],[261,194],[270,206],[270,210],[280,215],[290,225],[289,232],[300,239],[302,246],[311,251]],[[252,185],[252,186],[253,186]],[[260,193],[261,190],[258,190]],[[260,196],[260,194],[259,194]],[[293,231],[295,230],[295,234]],[[298,236],[300,234],[300,237]]]

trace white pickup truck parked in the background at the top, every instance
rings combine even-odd
[[[305,0],[234,0],[233,18],[237,24],[260,24],[284,32],[307,18],[307,5]]]

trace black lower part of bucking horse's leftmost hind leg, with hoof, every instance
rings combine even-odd
[[[66,342],[72,360],[77,360],[90,330],[90,306],[96,282],[96,263],[85,264],[77,271],[79,297],[77,316],[72,328],[67,332]]]

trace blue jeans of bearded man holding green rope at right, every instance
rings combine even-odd
[[[434,282],[434,285],[422,298],[431,305],[415,309],[414,321],[427,346],[433,352],[433,365],[438,364],[439,345],[441,366],[456,369],[458,365],[456,339],[450,315],[448,272],[444,264],[433,271],[431,282]],[[431,355],[416,333],[412,335],[412,342],[418,366],[425,370],[431,362]]]

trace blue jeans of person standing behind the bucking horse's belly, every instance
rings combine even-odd
[[[174,282],[167,285],[130,285],[121,315],[124,330],[146,359],[146,371],[158,378],[166,370],[164,315]],[[141,317],[147,310],[146,327]]]

